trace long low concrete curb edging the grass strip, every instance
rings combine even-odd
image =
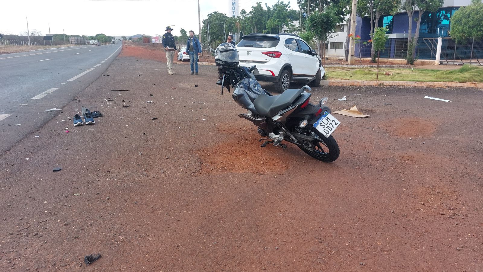
[[[421,82],[421,81],[372,81],[372,80],[322,80],[320,86],[413,86],[413,87],[473,87],[483,88],[483,83]]]

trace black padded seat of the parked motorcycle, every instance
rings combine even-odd
[[[260,94],[253,105],[260,116],[272,117],[290,106],[302,92],[299,89],[286,89],[284,93],[275,96]]]

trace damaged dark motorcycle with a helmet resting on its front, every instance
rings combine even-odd
[[[272,143],[287,148],[282,141],[297,145],[303,152],[324,162],[335,161],[340,154],[339,145],[332,132],[341,124],[326,106],[327,97],[316,105],[309,102],[312,90],[309,86],[300,89],[287,89],[282,94],[272,95],[262,89],[250,68],[239,65],[236,48],[230,43],[222,43],[215,50],[215,63],[220,74],[217,84],[230,91],[234,88],[233,100],[245,114],[238,115],[258,127],[262,137],[260,146]]]

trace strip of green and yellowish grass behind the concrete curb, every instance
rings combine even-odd
[[[346,80],[376,80],[376,68],[328,68],[329,79]],[[384,75],[384,72],[392,75]],[[408,68],[380,68],[380,81],[423,81],[423,82],[483,82],[483,68],[474,65],[463,65],[452,71],[440,71],[432,69],[408,69]]]

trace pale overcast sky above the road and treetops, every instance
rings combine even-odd
[[[269,6],[277,0],[239,0],[239,10],[247,12],[257,1]],[[285,1],[287,2],[287,1]],[[297,8],[293,0],[291,8]],[[231,0],[199,0],[201,20],[214,11],[227,14]],[[3,0],[0,6],[0,33],[19,35],[28,29],[49,34],[154,36],[173,25],[198,34],[196,0]]]

